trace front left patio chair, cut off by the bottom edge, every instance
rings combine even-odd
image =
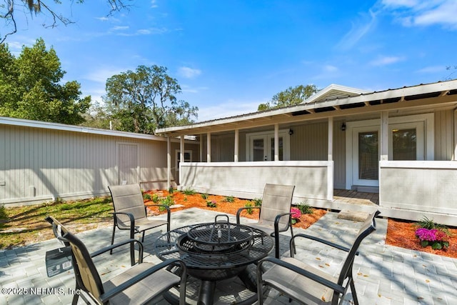
[[[140,241],[127,239],[126,241],[107,246],[104,249],[89,254],[84,243],[71,234],[54,217],[46,217],[46,221],[52,224],[54,235],[71,247],[71,257],[76,279],[75,291],[84,291],[97,304],[145,304],[152,299],[169,291],[172,287],[179,286],[179,304],[184,305],[186,300],[186,265],[179,259],[169,259],[161,264],[143,262],[143,245]],[[96,269],[93,257],[99,256],[111,249],[127,243],[136,242],[140,246],[138,264],[123,273],[114,276],[108,281],[101,281]],[[167,271],[181,266],[182,276]],[[74,294],[72,304],[78,304],[79,296],[89,304],[84,294]]]

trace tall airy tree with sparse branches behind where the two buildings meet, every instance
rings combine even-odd
[[[197,107],[178,101],[181,87],[163,66],[139,66],[106,81],[104,101],[114,129],[152,134],[157,128],[192,123]]]

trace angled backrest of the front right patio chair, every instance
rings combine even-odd
[[[376,230],[376,216],[381,214],[380,211],[374,211],[366,221],[363,222],[361,229],[358,230],[358,234],[356,240],[353,242],[351,249],[348,251],[348,256],[346,256],[346,261],[344,261],[343,268],[341,269],[341,273],[338,278],[338,284],[342,285],[343,281],[348,276],[352,276],[352,265],[354,258],[356,256],[358,246],[360,246],[363,239],[366,236],[370,235],[373,231]]]

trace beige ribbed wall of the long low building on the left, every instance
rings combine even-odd
[[[107,186],[121,183],[120,144],[131,145],[130,153],[137,154],[138,164],[131,169],[136,181],[126,183],[166,189],[166,139],[0,124],[0,204],[107,195]]]

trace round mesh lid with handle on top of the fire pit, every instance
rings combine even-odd
[[[218,217],[223,216],[227,218],[226,221],[217,221]],[[234,245],[251,241],[253,239],[253,231],[250,227],[242,224],[231,224],[229,216],[221,214],[215,217],[214,223],[210,222],[194,226],[187,232],[187,236],[199,244]]]

